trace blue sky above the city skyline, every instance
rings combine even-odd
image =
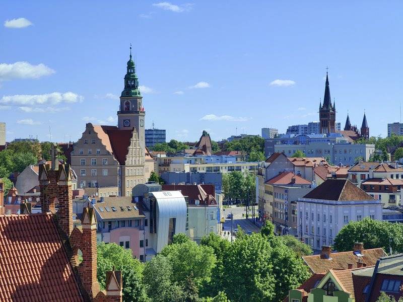
[[[386,135],[403,95],[402,11],[401,1],[2,1],[0,121],[8,140],[114,125],[132,43],[146,126],[168,139],[318,120],[327,65],[337,121],[349,110],[361,126],[365,109],[371,135]]]

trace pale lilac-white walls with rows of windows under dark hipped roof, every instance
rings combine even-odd
[[[298,219],[302,217],[299,220],[302,220],[302,237],[314,250],[320,250],[322,245],[331,246],[341,228],[350,221],[365,217],[382,220],[382,204],[379,200],[341,202],[300,198],[297,204]],[[346,221],[344,216],[347,217]],[[298,228],[297,234],[301,237],[301,228]]]

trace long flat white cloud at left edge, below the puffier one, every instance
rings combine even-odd
[[[0,104],[10,105],[56,105],[60,103],[78,103],[84,100],[83,96],[73,92],[53,92],[43,95],[14,95],[3,96]]]

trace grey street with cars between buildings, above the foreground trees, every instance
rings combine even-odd
[[[251,207],[250,207],[251,209]],[[246,210],[245,207],[237,207],[235,205],[230,206],[229,208],[223,209],[224,211],[224,217],[225,217],[225,223],[224,223],[224,233],[228,234],[228,232],[231,232],[231,219],[227,218],[227,215],[229,213],[233,213],[234,218],[232,220],[232,230],[235,230],[238,225],[242,228],[242,230],[245,232],[245,234],[248,231],[258,233],[260,232],[260,229],[251,222],[251,219],[246,219]],[[255,207],[255,212],[257,212],[257,206]],[[251,213],[251,210],[249,211]],[[243,217],[242,217],[242,214]],[[231,240],[231,236],[225,235],[225,238],[228,240]],[[235,237],[233,237],[233,240]]]

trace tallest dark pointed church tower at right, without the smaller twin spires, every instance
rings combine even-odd
[[[335,104],[331,104],[329,78],[326,71],[326,85],[324,88],[323,105],[319,105],[320,133],[334,133],[336,123]]]

